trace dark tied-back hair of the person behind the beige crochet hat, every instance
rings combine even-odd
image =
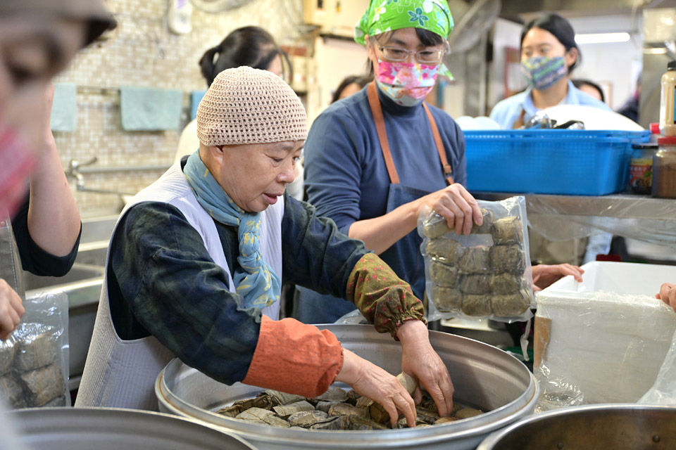
[[[277,55],[282,58],[282,68],[286,62],[290,81],[293,72],[289,56],[277,46],[270,33],[261,27],[242,27],[228,34],[218,46],[208,49],[199,60],[199,67],[211,86],[216,75],[226,69],[248,65],[268,70]]]

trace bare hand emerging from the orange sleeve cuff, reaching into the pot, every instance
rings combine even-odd
[[[336,381],[349,384],[360,395],[380,404],[389,413],[389,422],[396,424],[399,412],[409,427],[415,427],[415,404],[411,395],[394,375],[343,349],[343,366]]]

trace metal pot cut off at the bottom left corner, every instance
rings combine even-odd
[[[256,450],[196,420],[133,409],[20,409],[2,419],[13,423],[18,441],[31,450]]]

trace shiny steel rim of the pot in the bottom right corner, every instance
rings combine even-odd
[[[506,428],[492,432],[486,437],[477,447],[477,450],[485,450],[492,448],[497,442],[500,442],[500,439],[503,439],[506,435],[509,435],[511,432],[518,428],[525,427],[530,423],[539,422],[542,420],[547,420],[549,418],[562,418],[565,416],[570,416],[572,414],[578,413],[594,413],[594,412],[613,412],[613,411],[674,411],[676,413],[676,406],[666,406],[666,405],[647,405],[647,404],[635,404],[635,403],[599,403],[593,405],[581,405],[581,406],[566,406],[563,408],[553,409],[551,411],[545,411],[544,413],[534,414],[527,418],[518,420],[511,425],[508,425]]]

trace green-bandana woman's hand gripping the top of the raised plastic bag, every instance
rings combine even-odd
[[[462,184],[451,184],[440,191],[420,198],[420,207],[427,205],[446,219],[449,230],[456,234],[469,234],[474,224],[481,225],[483,217],[479,204]],[[418,209],[420,214],[420,209]]]

